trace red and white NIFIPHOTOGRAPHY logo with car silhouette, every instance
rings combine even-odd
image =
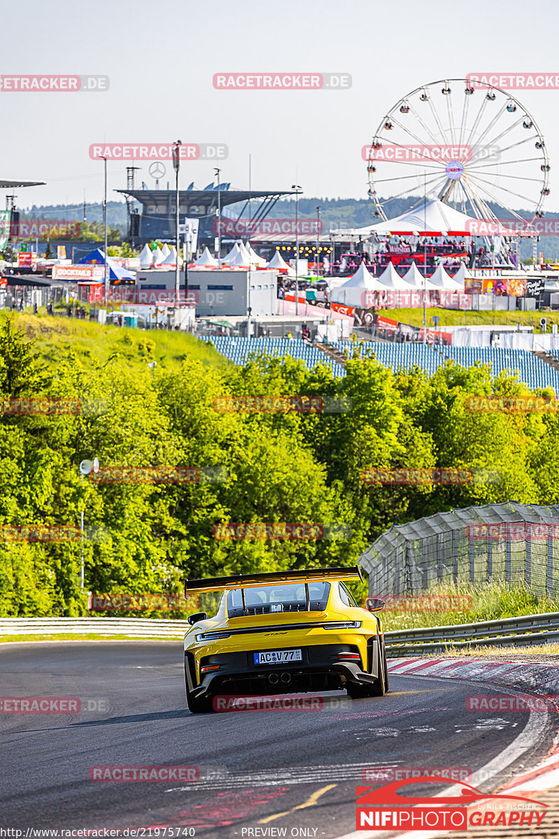
[[[411,796],[398,795],[398,790],[406,785],[451,784],[459,786],[458,795]],[[450,791],[452,791],[452,789]],[[545,812],[533,809],[547,807],[542,801],[524,798],[521,795],[495,795],[484,793],[469,784],[436,778],[393,781],[373,789],[356,787],[357,797],[356,828],[358,831],[466,831],[473,826],[535,826],[539,827]],[[478,807],[468,809],[481,801],[514,801],[510,810],[483,810]],[[449,806],[451,805],[451,806]],[[531,809],[528,809],[530,807]]]

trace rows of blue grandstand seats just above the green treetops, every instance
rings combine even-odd
[[[210,341],[217,352],[239,365],[245,364],[253,354],[276,358],[291,356],[303,361],[309,370],[317,364],[326,364],[332,368],[334,376],[345,375],[341,364],[326,356],[318,347],[298,339],[205,336],[201,340]],[[334,341],[330,346],[347,353],[348,358],[352,358],[355,349],[360,347],[360,352],[365,356],[375,355],[384,367],[389,367],[394,373],[397,370],[421,367],[427,375],[432,376],[448,360],[456,362],[460,367],[473,367],[475,362],[482,362],[491,367],[495,376],[506,370],[529,388],[552,388],[559,395],[559,369],[551,367],[527,350],[494,347],[435,348],[427,344],[375,341]],[[558,350],[551,351],[551,354],[559,358]]]

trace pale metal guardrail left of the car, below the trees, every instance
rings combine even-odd
[[[187,621],[152,618],[0,618],[3,635],[127,635],[130,638],[182,638]]]

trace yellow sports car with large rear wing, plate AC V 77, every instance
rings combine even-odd
[[[223,591],[214,618],[189,616],[184,675],[189,711],[212,711],[217,695],[347,690],[383,696],[388,669],[379,599],[357,605],[344,581],[359,565],[187,580],[184,594]]]

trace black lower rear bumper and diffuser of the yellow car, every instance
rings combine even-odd
[[[378,661],[377,639],[370,639],[371,663]],[[302,647],[303,660],[284,664],[254,664],[253,651],[210,654],[200,666],[220,665],[219,670],[200,674],[195,685],[194,656],[185,652],[185,670],[193,696],[261,696],[305,693],[313,690],[343,690],[348,682],[370,685],[378,670],[363,670],[361,659],[340,659],[339,654],[359,653],[350,644],[314,644]]]

